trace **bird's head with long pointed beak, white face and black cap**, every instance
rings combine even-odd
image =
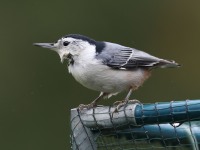
[[[63,62],[65,59],[79,56],[85,50],[97,47],[98,43],[83,35],[69,34],[55,43],[34,43],[34,45],[56,51]]]

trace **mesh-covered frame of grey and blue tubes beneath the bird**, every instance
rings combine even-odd
[[[191,102],[191,101],[190,101]],[[185,101],[181,105],[179,102],[168,103],[169,107],[162,107],[158,103],[154,104],[154,113],[149,120],[157,117],[154,123],[148,124],[146,114],[151,110],[141,107],[141,116],[137,116],[137,109],[127,106],[122,108],[116,115],[112,116],[112,107],[101,107],[87,111],[74,109],[71,116],[71,139],[73,150],[198,150],[200,147],[200,114],[199,117],[191,117],[192,113],[200,111],[200,101],[188,103]],[[167,103],[164,105],[166,106]],[[184,106],[184,109],[181,106]],[[190,106],[195,108],[192,110]],[[178,110],[176,110],[178,108]],[[131,119],[127,111],[132,111],[135,117]],[[162,114],[170,110],[170,113]],[[149,112],[148,112],[149,111]],[[121,113],[121,114],[120,114]],[[177,114],[181,116],[185,114],[185,118],[181,117],[181,121],[177,122]],[[124,116],[122,115],[124,114]],[[128,115],[127,115],[128,114]],[[85,116],[86,115],[86,116]],[[109,117],[108,117],[109,116]],[[165,117],[170,122],[164,122]],[[138,118],[137,118],[138,117]],[[120,119],[125,118],[122,122]],[[162,118],[162,119],[160,119]],[[93,119],[93,120],[92,120]],[[137,123],[139,119],[139,124]],[[142,121],[141,121],[142,120]],[[166,119],[167,120],[167,119]],[[88,122],[87,122],[88,121]],[[102,123],[103,121],[103,123]],[[169,120],[168,120],[169,121]],[[151,122],[151,121],[150,121]],[[107,124],[108,123],[108,124]],[[119,123],[119,124],[117,124]]]

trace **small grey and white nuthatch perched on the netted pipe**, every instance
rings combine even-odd
[[[133,91],[146,81],[155,68],[176,68],[173,60],[155,57],[144,51],[117,43],[96,41],[80,34],[68,34],[53,43],[34,43],[58,53],[60,60],[68,60],[68,71],[84,87],[99,91],[100,95],[90,104],[80,104],[79,109],[97,107],[99,100],[128,91],[122,101],[116,101],[115,111],[130,100]]]

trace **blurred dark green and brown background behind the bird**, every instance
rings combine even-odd
[[[99,94],[77,83],[55,52],[34,42],[79,33],[174,59],[181,68],[155,70],[132,98],[200,98],[200,1],[2,0],[0,17],[1,150],[70,149],[70,109]]]

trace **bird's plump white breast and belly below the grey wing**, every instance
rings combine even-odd
[[[144,82],[146,77],[143,69],[111,69],[94,59],[95,53],[95,48],[83,51],[74,58],[74,64],[68,67],[69,72],[83,86],[96,91],[118,93],[130,87],[137,88]]]

